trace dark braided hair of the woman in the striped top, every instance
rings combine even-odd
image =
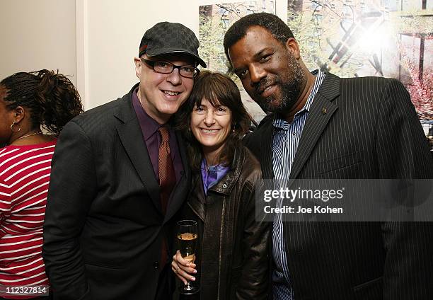
[[[42,126],[58,135],[69,120],[83,113],[78,91],[58,71],[18,72],[3,79],[0,86],[6,89],[6,108],[30,110],[34,129]]]

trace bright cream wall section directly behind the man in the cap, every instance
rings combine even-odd
[[[123,96],[138,82],[134,56],[155,23],[183,23],[198,33],[197,1],[88,0],[87,108]],[[85,75],[86,76],[86,75]]]

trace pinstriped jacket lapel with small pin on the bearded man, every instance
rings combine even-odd
[[[308,113],[298,149],[296,149],[296,156],[291,166],[290,179],[296,178],[304,167],[311,151],[316,146],[316,142],[338,108],[333,100],[339,95],[340,78],[333,74],[326,74]]]

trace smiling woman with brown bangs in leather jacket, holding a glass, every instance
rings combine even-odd
[[[197,279],[200,299],[266,299],[270,223],[255,220],[262,173],[241,143],[250,117],[236,83],[202,71],[178,119],[193,172],[182,219],[197,222],[198,241],[194,263],[178,251],[172,270]]]

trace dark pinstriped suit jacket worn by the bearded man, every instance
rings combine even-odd
[[[273,178],[273,116],[246,138]],[[395,79],[327,74],[290,178],[433,178],[410,96]],[[431,224],[284,222],[295,300],[433,299]]]

